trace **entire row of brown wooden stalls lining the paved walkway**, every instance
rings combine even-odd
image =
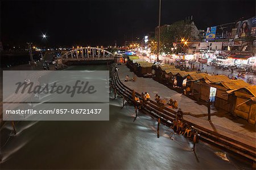
[[[155,80],[171,87],[188,89],[196,100],[210,101],[218,109],[246,119],[255,125],[256,86],[243,80],[231,80],[225,75],[212,76],[201,72],[185,72],[174,65],[152,64],[130,56],[127,67],[138,76],[154,74]]]

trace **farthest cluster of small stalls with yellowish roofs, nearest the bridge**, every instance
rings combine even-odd
[[[148,63],[145,60],[139,59],[138,56],[129,56],[126,63],[127,67],[130,68],[139,77],[152,77],[154,72],[152,72],[152,63]]]

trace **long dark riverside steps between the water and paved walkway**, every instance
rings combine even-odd
[[[125,94],[126,98],[129,98],[132,101],[132,92],[130,88],[125,86],[118,77],[118,74],[114,72],[114,69],[112,69],[112,75],[115,87],[118,89],[118,91],[121,94]],[[138,96],[140,96],[139,93],[136,93]],[[164,122],[166,124],[170,124],[170,121],[173,121],[175,119],[176,111],[164,107],[163,110],[159,110],[159,106],[154,101],[147,102],[147,105],[145,106],[145,110],[147,113],[150,113],[154,117],[162,117],[164,119]],[[209,143],[212,143],[214,145],[220,146],[222,148],[225,148],[226,150],[232,151],[236,154],[242,155],[247,157],[250,160],[256,160],[255,159],[255,146],[251,146],[250,142],[252,139],[249,139],[250,142],[246,142],[248,140],[248,137],[250,136],[242,136],[244,140],[242,142],[236,140],[235,138],[230,138],[230,130],[228,132],[225,132],[223,127],[218,127],[218,129],[221,129],[220,131],[214,130],[213,127],[205,126],[209,125],[209,122],[205,122],[203,119],[193,118],[189,117],[188,115],[184,116],[184,121],[191,124],[192,126],[195,126],[195,128],[200,131],[201,139],[204,141],[207,141]],[[170,124],[171,125],[171,124]],[[214,125],[216,126],[216,125]],[[231,135],[234,137],[233,135]],[[236,136],[237,137],[237,136]],[[246,137],[246,138],[245,138]],[[255,143],[255,142],[254,142]]]

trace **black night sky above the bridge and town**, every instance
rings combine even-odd
[[[158,0],[1,1],[1,42],[22,45],[123,45],[158,24]],[[255,0],[162,0],[162,22],[193,15],[204,29],[255,15]],[[42,33],[47,32],[47,40]]]

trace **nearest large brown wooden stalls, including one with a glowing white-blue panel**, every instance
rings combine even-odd
[[[225,75],[189,74],[187,86],[197,100],[214,102],[214,106],[255,125],[256,86]]]

